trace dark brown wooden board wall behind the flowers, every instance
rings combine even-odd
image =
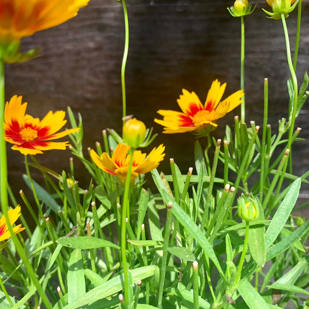
[[[261,10],[271,10],[264,0],[250,1],[256,10],[245,20],[245,93],[246,122],[263,124],[263,83],[269,81],[269,123],[277,133],[278,120],[287,117],[290,71],[286,60],[286,45],[280,20],[266,18]],[[194,167],[195,136],[191,133],[162,134],[163,127],[153,119],[158,109],[180,110],[176,99],[182,88],[195,91],[201,102],[214,79],[227,83],[223,99],[240,89],[240,18],[232,17],[227,0],[134,0],[127,1],[129,15],[129,54],[125,71],[127,114],[133,114],[154,127],[159,133],[149,147],[163,143],[166,159],[158,170],[170,174],[169,158],[174,158],[182,173]],[[309,2],[303,1],[302,26],[298,53],[299,86],[304,71],[309,68]],[[297,10],[286,20],[294,52]],[[6,65],[6,100],[22,95],[28,102],[27,113],[40,119],[49,111],[80,112],[84,127],[84,154],[102,141],[102,129],[121,133],[122,95],[121,61],[125,40],[124,14],[120,1],[90,0],[78,15],[60,26],[35,33],[22,40],[24,51],[40,47],[41,57],[32,61]],[[296,127],[300,138],[309,133],[309,104],[303,107]],[[233,126],[236,108],[220,120],[211,134],[224,138],[225,126]],[[161,116],[159,116],[161,117]],[[162,118],[162,117],[161,117]],[[161,119],[160,118],[160,119]],[[66,125],[69,128],[69,124]],[[65,139],[67,140],[67,139]],[[203,147],[206,139],[200,139]],[[18,191],[27,192],[22,174],[24,156],[7,145],[9,183],[18,201]],[[147,149],[147,152],[150,151]],[[214,146],[210,150],[214,151]],[[295,175],[309,169],[309,143],[293,144]],[[61,173],[69,172],[70,150],[49,150],[36,155],[41,165]],[[90,176],[78,159],[74,159],[75,178],[86,188]],[[223,174],[223,169],[221,168]],[[33,178],[43,178],[34,168]],[[194,173],[194,171],[193,171]],[[232,173],[231,173],[232,174]],[[220,171],[218,173],[220,175]],[[256,175],[258,177],[258,175]],[[232,178],[232,175],[231,175]],[[148,181],[144,187],[152,185]],[[30,197],[30,194],[28,194]],[[302,184],[300,203],[309,197],[309,185]],[[21,202],[22,204],[22,202]],[[23,205],[23,204],[22,204]],[[294,213],[295,214],[295,213]],[[305,215],[306,211],[303,210]],[[296,215],[296,214],[295,214]],[[308,209],[306,217],[308,218]]]

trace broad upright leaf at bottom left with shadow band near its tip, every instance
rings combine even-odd
[[[83,258],[80,249],[75,249],[70,257],[67,275],[68,302],[76,298],[83,298],[86,294]]]

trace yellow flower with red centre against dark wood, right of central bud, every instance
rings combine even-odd
[[[208,91],[204,106],[195,92],[182,90],[183,95],[177,100],[183,112],[160,109],[158,113],[163,120],[155,119],[155,122],[165,126],[163,133],[192,132],[198,136],[207,136],[215,129],[218,119],[231,112],[242,100],[243,90],[236,91],[225,100],[221,101],[226,83],[220,86],[216,79]]]

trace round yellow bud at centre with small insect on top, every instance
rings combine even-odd
[[[127,120],[123,125],[122,138],[129,146],[137,148],[144,142],[145,134],[146,126],[136,118]]]

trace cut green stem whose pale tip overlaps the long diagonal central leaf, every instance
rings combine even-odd
[[[163,288],[164,288],[164,280],[165,280],[165,273],[166,273],[166,265],[168,263],[167,248],[168,248],[168,242],[170,239],[171,220],[172,220],[172,202],[169,202],[168,208],[167,208],[167,218],[166,218],[166,223],[165,223],[162,267],[161,267],[160,287],[159,287],[158,306],[157,306],[158,308],[162,308],[162,298],[163,298]]]

